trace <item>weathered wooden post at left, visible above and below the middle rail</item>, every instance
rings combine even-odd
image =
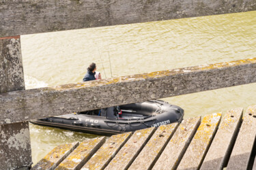
[[[0,6],[1,10],[1,6]],[[20,37],[0,39],[0,93],[24,90]],[[5,112],[0,111],[3,115]],[[12,114],[9,116],[16,116]],[[10,122],[6,119],[7,122]],[[29,122],[0,126],[0,169],[18,169],[32,164]]]

